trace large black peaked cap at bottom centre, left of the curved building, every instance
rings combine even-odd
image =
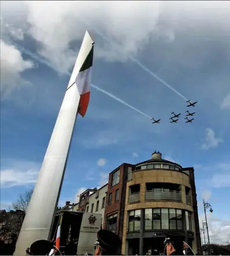
[[[101,229],[97,236],[98,244],[103,250],[118,250],[121,247],[121,239],[112,231]]]

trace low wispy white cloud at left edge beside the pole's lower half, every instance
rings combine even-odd
[[[7,167],[1,167],[1,188],[34,184],[38,170],[37,163],[12,159]]]

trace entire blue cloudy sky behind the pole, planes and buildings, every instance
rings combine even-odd
[[[151,158],[194,167],[199,220],[230,237],[230,2],[1,1],[1,209],[34,187],[86,30],[91,98],[60,205]],[[198,101],[185,123],[186,100]],[[170,123],[171,112],[181,113]],[[150,118],[161,119],[152,124]]]

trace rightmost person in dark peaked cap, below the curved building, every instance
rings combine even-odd
[[[167,255],[184,255],[183,253],[183,237],[175,235],[175,233],[165,233],[164,244],[166,245]]]

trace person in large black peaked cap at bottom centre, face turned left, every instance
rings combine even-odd
[[[121,239],[112,231],[101,229],[94,244],[94,255],[119,255]],[[121,255],[121,254],[120,254]]]

